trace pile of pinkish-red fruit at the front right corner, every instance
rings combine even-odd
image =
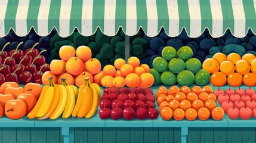
[[[214,94],[230,119],[235,120],[239,116],[243,120],[250,119],[251,116],[256,118],[256,92],[254,89],[238,88],[235,91],[232,88],[225,91],[217,89]]]

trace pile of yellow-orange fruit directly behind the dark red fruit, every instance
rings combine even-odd
[[[94,82],[105,87],[121,88],[126,85],[129,88],[149,88],[154,83],[154,77],[149,73],[147,64],[140,65],[137,57],[130,57],[127,63],[124,59],[118,58],[114,66],[105,66],[103,71],[94,76]]]

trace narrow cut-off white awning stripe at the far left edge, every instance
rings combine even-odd
[[[0,37],[5,36],[5,13],[7,10],[8,0],[0,1]]]

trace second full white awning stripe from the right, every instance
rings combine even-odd
[[[221,2],[220,0],[210,1],[211,14],[212,14],[212,31],[210,32],[213,37],[220,37],[223,35],[223,15],[220,13]]]

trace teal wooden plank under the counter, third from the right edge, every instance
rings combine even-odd
[[[214,142],[227,143],[227,128],[214,128]]]

